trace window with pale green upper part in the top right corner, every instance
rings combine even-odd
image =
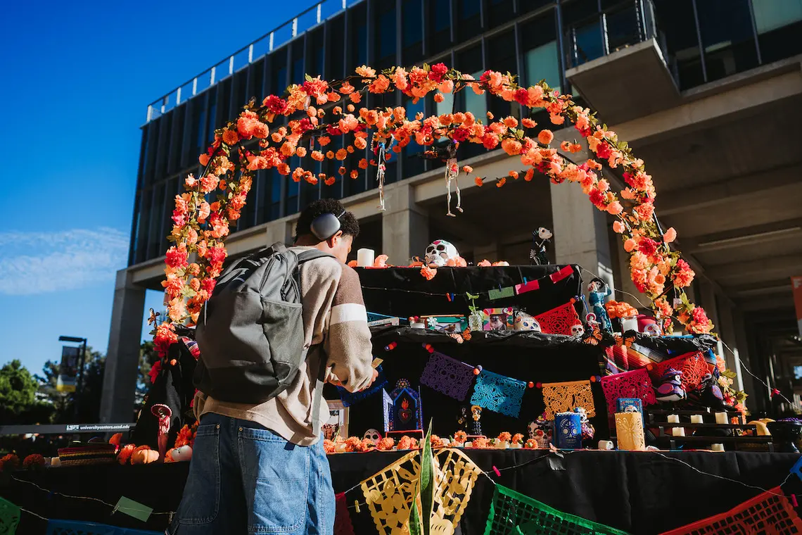
[[[763,63],[802,54],[802,0],[752,0],[752,11]]]

